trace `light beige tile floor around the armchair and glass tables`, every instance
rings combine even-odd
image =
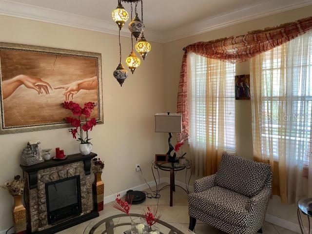
[[[146,191],[148,192],[148,190]],[[139,205],[133,205],[131,207],[131,211],[133,213],[142,214],[143,209],[146,209],[147,205],[155,205],[158,202],[158,210],[159,214],[161,214],[160,218],[161,220],[170,223],[171,225],[177,228],[187,230],[189,225],[187,194],[182,189],[176,188],[176,192],[174,193],[173,207],[169,206],[169,196],[170,196],[169,188],[161,191],[160,195],[161,196],[159,198],[159,201],[154,198],[153,199],[146,198],[146,201],[144,201],[144,203],[141,203]],[[107,215],[110,216],[111,214],[115,215],[119,213],[120,213],[119,211],[116,211],[116,209],[113,208],[113,202],[105,204],[104,211],[100,212],[99,217],[92,219],[88,222],[81,223],[75,227],[69,228],[62,232],[59,232],[59,234],[85,234],[86,229],[90,229],[90,227],[92,227],[98,221],[102,220]],[[118,220],[118,222],[127,222],[127,221],[124,220],[124,217],[121,217]],[[262,230],[264,234],[295,234],[292,231],[289,231],[287,229],[273,225],[268,222],[265,222]],[[117,234],[123,234],[123,232],[120,231],[120,233],[118,232]],[[210,227],[207,224],[197,221],[197,224],[195,226],[195,234],[224,234],[224,233],[213,227]]]

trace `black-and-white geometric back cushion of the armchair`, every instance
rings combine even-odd
[[[215,185],[251,197],[263,188],[270,171],[270,164],[223,154]]]

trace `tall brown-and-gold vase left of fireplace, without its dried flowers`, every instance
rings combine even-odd
[[[16,234],[26,234],[26,209],[21,202],[22,195],[13,196],[13,222]]]

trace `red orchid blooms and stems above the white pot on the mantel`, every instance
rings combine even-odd
[[[73,101],[65,101],[61,104],[61,106],[66,110],[70,110],[74,116],[78,116],[78,118],[66,117],[66,121],[70,123],[73,127],[75,127],[68,130],[73,135],[73,138],[77,139],[78,136],[78,141],[80,141],[81,144],[90,143],[89,140],[91,139],[88,136],[88,131],[92,131],[93,127],[97,125],[97,120],[95,118],[88,118],[91,116],[91,113],[94,110],[96,104],[94,102],[86,102],[84,103],[84,106],[82,108],[78,103],[75,103]],[[83,116],[85,118],[84,124],[82,124],[81,121],[81,118]],[[83,137],[83,131],[86,132],[85,138]]]

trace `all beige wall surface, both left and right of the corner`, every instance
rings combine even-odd
[[[102,178],[107,196],[111,194],[110,190],[116,193],[144,183],[140,174],[134,170],[136,163],[141,164],[147,181],[152,180],[150,161],[156,153],[166,151],[166,135],[154,133],[154,114],[164,111],[176,112],[177,86],[184,46],[199,40],[245,34],[250,30],[297,20],[310,16],[311,11],[312,7],[305,7],[166,44],[153,43],[152,52],[142,61],[135,76],[130,75],[122,88],[112,76],[118,62],[117,36],[0,16],[0,41],[102,54],[105,123],[98,125],[91,137],[93,152],[105,160],[106,167]],[[130,52],[130,39],[122,37],[121,43],[124,60]],[[248,62],[238,64],[236,73],[248,74]],[[25,105],[35,108],[31,103]],[[250,101],[236,101],[235,112],[237,153],[251,158],[253,148]],[[78,152],[78,144],[66,129],[2,135],[0,184],[21,173],[20,151],[31,139],[39,139],[42,148],[61,147],[65,149],[66,154]],[[178,178],[183,181],[182,176]],[[0,230],[4,230],[12,224],[10,212],[13,202],[12,197],[2,189],[0,197]],[[270,204],[268,212],[295,222],[295,207],[282,206],[278,198],[274,199],[276,202]]]

